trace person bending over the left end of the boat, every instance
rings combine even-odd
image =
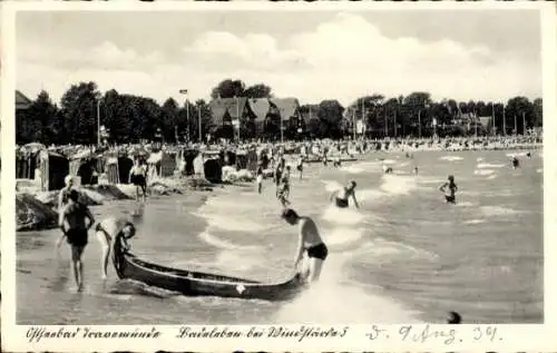
[[[102,280],[106,280],[108,277],[108,256],[110,255],[113,242],[118,235],[121,235],[120,238],[124,241],[131,238],[136,234],[136,227],[128,219],[109,217],[97,224],[95,233],[102,251],[100,257],[100,276]],[[128,247],[127,243],[125,243],[125,246]]]

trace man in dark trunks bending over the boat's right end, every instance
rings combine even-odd
[[[307,253],[310,261],[309,282],[319,280],[323,262],[325,261],[329,251],[325,243],[321,238],[317,226],[310,217],[299,216],[292,208],[285,208],[281,217],[290,225],[299,225],[299,241],[296,257],[294,258],[294,268],[297,268],[303,258],[304,252]]]

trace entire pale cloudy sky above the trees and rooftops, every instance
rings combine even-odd
[[[63,11],[17,14],[17,89],[58,102],[96,81],[164,102],[219,81],[301,104],[429,91],[440,100],[541,97],[536,10]]]

